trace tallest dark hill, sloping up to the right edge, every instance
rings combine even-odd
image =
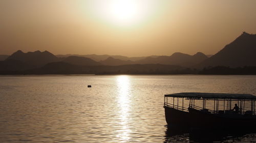
[[[256,66],[256,35],[243,32],[215,55],[199,64],[198,68],[214,66]]]

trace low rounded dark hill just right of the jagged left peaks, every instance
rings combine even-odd
[[[66,62],[73,65],[80,65],[80,66],[99,66],[102,65],[99,62],[95,62],[92,59],[80,57],[80,56],[69,56],[62,60],[62,62]]]

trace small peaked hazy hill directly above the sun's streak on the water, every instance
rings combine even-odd
[[[114,59],[112,57],[109,57],[108,59],[104,60],[104,61],[100,61],[100,63],[102,65],[106,65],[106,66],[120,66],[120,65],[131,65],[134,64],[133,61],[123,61],[123,60],[119,60],[119,59]]]

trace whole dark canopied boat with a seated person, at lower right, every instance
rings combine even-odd
[[[255,128],[256,96],[226,93],[176,93],[164,95],[168,126],[189,128]],[[235,107],[233,107],[235,105]]]

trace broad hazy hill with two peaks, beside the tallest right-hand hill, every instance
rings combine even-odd
[[[201,52],[194,55],[176,52],[170,56],[158,56],[157,58],[147,57],[143,60],[137,61],[138,64],[165,64],[165,65],[179,65],[184,67],[193,66],[206,60],[207,56]]]

